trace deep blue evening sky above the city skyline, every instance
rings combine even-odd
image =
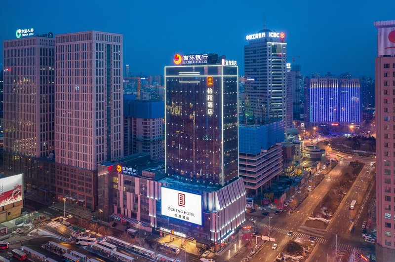
[[[123,63],[135,75],[163,74],[175,53],[226,55],[242,75],[245,36],[263,29],[266,16],[266,28],[285,32],[288,62],[295,56],[302,74],[374,76],[373,22],[395,20],[394,10],[395,0],[3,0],[0,40],[19,28],[120,33]]]

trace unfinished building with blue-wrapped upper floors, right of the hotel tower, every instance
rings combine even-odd
[[[253,121],[255,122],[255,121]],[[247,196],[262,194],[283,172],[284,120],[239,124],[239,176]]]

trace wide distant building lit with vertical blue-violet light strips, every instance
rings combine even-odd
[[[359,79],[320,77],[307,81],[309,125],[360,125]]]

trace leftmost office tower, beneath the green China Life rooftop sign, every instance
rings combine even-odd
[[[54,42],[22,37],[3,43],[5,152],[30,157],[55,152]]]

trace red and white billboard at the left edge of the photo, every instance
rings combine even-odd
[[[22,174],[0,179],[0,207],[22,200]]]

